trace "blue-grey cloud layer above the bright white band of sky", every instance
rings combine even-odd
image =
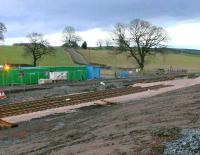
[[[85,30],[134,18],[179,21],[200,17],[199,0],[0,0],[0,4],[0,21],[8,26],[8,36],[51,33],[65,25]]]

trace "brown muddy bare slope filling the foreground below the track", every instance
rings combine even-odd
[[[160,154],[163,142],[178,138],[181,129],[200,127],[199,114],[200,85],[129,103],[84,107],[1,130],[0,154]]]

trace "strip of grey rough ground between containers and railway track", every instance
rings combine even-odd
[[[184,75],[184,74],[183,74]],[[133,76],[129,78],[121,79],[99,79],[88,81],[67,81],[65,83],[54,83],[45,85],[21,85],[21,86],[8,86],[0,87],[0,90],[4,90],[7,99],[0,100],[1,104],[17,103],[23,101],[30,101],[35,99],[66,95],[72,93],[80,93],[87,91],[96,91],[101,89],[100,82],[106,84],[106,89],[124,87],[134,84],[138,81],[159,81],[163,78],[172,78],[177,75],[145,75],[145,76]]]

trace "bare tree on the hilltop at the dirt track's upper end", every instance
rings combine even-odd
[[[74,27],[66,26],[63,30],[64,46],[65,47],[78,47],[78,42],[81,41]]]

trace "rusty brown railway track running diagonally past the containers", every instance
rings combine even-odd
[[[115,88],[109,90],[102,90],[96,92],[87,92],[73,95],[64,95],[57,97],[50,97],[40,100],[27,101],[15,104],[1,105],[0,118],[21,115],[31,112],[42,111],[46,109],[53,109],[69,105],[77,105],[81,103],[103,100],[106,98],[123,96],[146,90],[155,90],[159,88],[169,87],[170,85],[155,85],[150,87],[128,87],[128,88]]]

